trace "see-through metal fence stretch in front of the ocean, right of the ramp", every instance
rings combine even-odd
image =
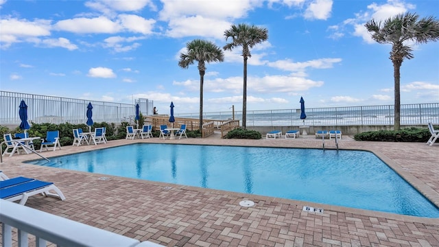
[[[306,108],[307,119],[300,119],[300,109],[248,110],[247,127],[251,126],[388,126],[394,124],[394,106],[346,106]],[[196,117],[196,113],[176,114]],[[203,119],[242,119],[242,112],[203,113]],[[401,105],[401,125],[439,123],[439,103]]]

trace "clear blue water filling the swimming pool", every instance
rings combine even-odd
[[[375,154],[138,143],[29,162],[420,217],[439,209]]]

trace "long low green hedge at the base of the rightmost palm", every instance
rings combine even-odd
[[[427,142],[431,136],[426,128],[407,128],[403,130],[378,130],[354,135],[355,141],[395,141]]]

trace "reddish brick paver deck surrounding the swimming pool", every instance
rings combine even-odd
[[[322,140],[145,139],[66,146],[44,156],[84,152],[134,142],[322,148]],[[326,148],[335,141],[325,140]],[[439,205],[439,143],[339,140],[341,149],[370,150]],[[36,154],[3,157],[10,177],[54,182],[67,200],[33,196],[26,206],[164,246],[439,246],[439,219],[335,207],[147,180],[28,165]],[[123,165],[123,164],[121,164]],[[105,176],[108,179],[102,179]],[[99,179],[100,178],[100,179]],[[252,200],[254,207],[241,207]],[[309,213],[302,207],[318,207]]]

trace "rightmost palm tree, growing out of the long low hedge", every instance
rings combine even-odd
[[[364,25],[371,33],[373,40],[380,44],[391,44],[390,60],[393,63],[394,75],[394,130],[401,125],[401,95],[399,83],[401,80],[400,68],[404,58],[414,58],[412,47],[407,42],[427,43],[439,39],[439,21],[429,16],[419,19],[418,14],[405,13],[390,17],[383,23],[374,19]]]

